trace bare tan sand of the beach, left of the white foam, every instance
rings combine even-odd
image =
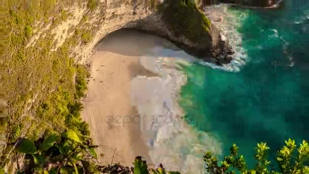
[[[110,34],[97,45],[97,52],[91,59],[82,118],[89,123],[91,137],[100,146],[97,152],[102,154],[100,162],[103,164],[131,165],[138,155],[150,163],[139,122],[128,120],[138,117],[137,110],[130,104],[130,81],[136,75],[156,75],[139,65],[139,56],[144,51],[142,46],[156,43],[149,40],[150,35],[147,40],[136,41],[135,34],[129,30]]]

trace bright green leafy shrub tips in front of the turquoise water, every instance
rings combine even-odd
[[[275,158],[278,169],[274,169],[274,166],[270,167],[270,161],[266,159],[267,150],[269,147],[267,143],[261,142],[257,144],[256,154],[254,158],[257,160],[256,167],[248,169],[246,167],[245,159],[242,155],[238,155],[238,147],[236,144],[230,148],[230,155],[218,163],[218,158],[211,155],[207,151],[204,155],[204,161],[206,163],[206,170],[212,174],[307,174],[309,173],[309,146],[308,142],[303,140],[295,153],[296,144],[295,140],[289,139],[285,142],[286,146],[277,151]],[[271,168],[271,170],[270,170]]]

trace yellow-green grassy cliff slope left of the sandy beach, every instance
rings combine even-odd
[[[37,2],[10,1],[7,5],[5,89],[9,105],[6,130],[9,146],[4,153],[10,152],[19,137],[35,140],[46,130],[73,129],[80,135],[89,135],[88,125],[80,117],[79,101],[86,90],[89,72],[74,62],[72,48],[90,42],[97,26],[90,26],[84,17],[68,32],[72,36],[56,48],[53,30],[72,14],[63,6],[44,3],[39,6]]]

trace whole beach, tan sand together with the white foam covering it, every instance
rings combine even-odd
[[[102,164],[131,165],[136,156],[181,173],[203,173],[203,152],[221,144],[182,120],[178,105],[187,75],[180,64],[199,62],[172,43],[121,30],[95,47],[82,118]],[[188,101],[190,102],[190,101]]]

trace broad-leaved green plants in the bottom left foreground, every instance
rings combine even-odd
[[[97,158],[89,139],[73,130],[46,133],[45,138],[32,141],[20,139],[16,151],[26,154],[25,168],[19,173],[94,173]],[[85,158],[87,157],[87,160]],[[20,170],[20,169],[18,169]]]

